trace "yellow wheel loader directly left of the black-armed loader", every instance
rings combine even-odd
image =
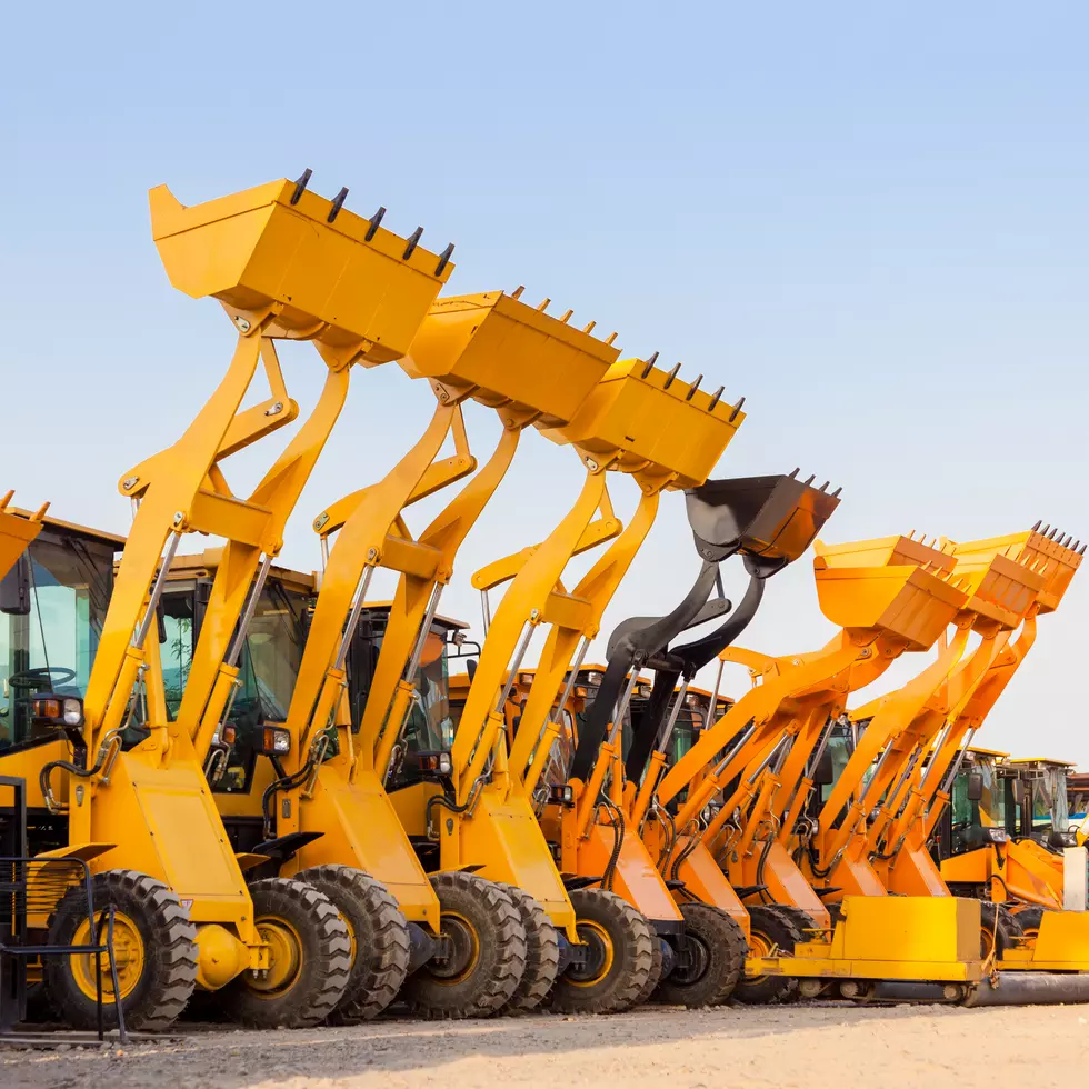
[[[677,368],[660,370],[653,358],[623,360],[570,424],[546,429],[578,451],[587,469],[582,493],[546,541],[473,577],[483,595],[487,637],[460,707],[451,775],[441,782],[399,783],[393,793],[429,870],[472,867],[521,889],[566,935],[572,948],[550,969],[549,987],[532,957],[527,966],[528,975],[540,976],[537,989],[551,990],[557,1009],[627,1009],[643,997],[651,971],[647,921],[607,889],[586,887],[576,875],[561,879],[537,822],[533,795],[556,737],[551,712],[565,677],[578,669],[601,611],[653,522],[661,492],[700,482],[743,418],[740,404],[721,402],[721,390],[707,394],[698,387],[699,380],[678,381]],[[609,470],[633,476],[642,492],[622,532],[606,487]],[[571,557],[609,540],[608,550],[568,590],[562,573]],[[503,583],[509,586],[491,616],[488,592]],[[548,637],[508,746],[504,707],[538,628]],[[394,668],[404,668],[403,652]],[[568,877],[576,880],[566,887]]]

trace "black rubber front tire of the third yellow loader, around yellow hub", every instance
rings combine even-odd
[[[627,900],[605,889],[571,892],[576,926],[590,923],[608,936],[612,963],[598,980],[582,982],[569,968],[552,988],[552,1009],[563,1013],[620,1013],[631,1009],[647,985],[658,936]]]

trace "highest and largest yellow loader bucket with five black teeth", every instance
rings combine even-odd
[[[269,312],[273,336],[316,340],[351,359],[398,359],[450,278],[439,256],[306,188],[272,181],[187,208],[166,186],[149,193],[151,231],[170,282],[212,296],[243,331]],[[380,210],[383,212],[384,210]],[[317,327],[317,331],[316,331]],[[322,328],[323,327],[323,328]]]

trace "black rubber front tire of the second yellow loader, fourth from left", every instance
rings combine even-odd
[[[457,979],[440,965],[424,965],[409,976],[401,995],[429,1020],[489,1017],[511,1000],[526,971],[526,928],[518,909],[494,881],[473,873],[433,873],[431,885],[443,932],[452,925],[468,936],[476,945],[473,962]]]

